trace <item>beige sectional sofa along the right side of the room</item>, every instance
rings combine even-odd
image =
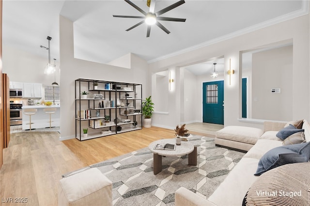
[[[258,188],[257,185],[259,186],[263,185],[263,188],[266,185],[272,185],[273,183],[277,185],[279,179],[281,179],[279,187],[280,188],[282,187],[283,191],[284,190],[289,190],[292,192],[302,191],[301,196],[297,196],[296,193],[296,196],[294,196],[293,199],[287,197],[288,200],[285,199],[287,205],[290,205],[290,203],[288,202],[289,200],[296,201],[298,205],[302,203],[304,204],[305,201],[306,202],[308,201],[308,205],[310,205],[310,162],[286,164],[283,166],[279,166],[275,169],[269,170],[261,176],[254,176],[258,167],[258,163],[260,159],[263,157],[263,155],[272,148],[282,146],[282,141],[275,135],[279,131],[279,129],[283,128],[285,125],[286,125],[285,123],[282,124],[282,123],[266,122],[264,131],[252,130],[251,128],[244,128],[244,127],[231,128],[231,129],[238,129],[231,131],[241,132],[243,134],[242,137],[238,137],[236,134],[234,134],[233,140],[229,140],[228,138],[225,137],[224,135],[225,130],[224,132],[221,131],[222,133],[220,134],[221,137],[220,139],[228,140],[231,141],[232,143],[227,144],[228,147],[234,147],[236,145],[239,149],[242,150],[248,149],[248,152],[240,160],[240,162],[238,162],[238,164],[233,168],[230,174],[219,185],[217,190],[214,191],[214,193],[207,200],[200,197],[198,194],[189,191],[188,189],[190,188],[188,189],[179,188],[175,192],[175,205],[176,206],[242,206],[244,197],[246,196],[249,189]],[[278,131],[276,131],[276,129]],[[310,125],[306,120],[303,121],[302,129],[305,130],[304,134],[306,142],[310,142]],[[244,130],[245,132],[242,132],[242,130]],[[255,135],[250,135],[251,134],[250,131],[256,131]],[[250,135],[248,137],[249,140],[247,140],[245,134]],[[262,138],[263,135],[264,137]],[[239,144],[240,142],[237,141],[237,140],[240,141],[241,139],[242,143],[244,144]],[[286,168],[285,170],[288,171],[289,175],[286,175],[286,173],[281,172],[281,170],[284,170],[283,168],[284,169]],[[300,174],[300,171],[306,171],[306,172],[302,173],[301,177],[298,177],[298,175],[296,174]],[[292,172],[296,172],[296,174],[292,175]],[[274,173],[277,173],[278,175],[275,175]],[[277,178],[272,179],[274,177]],[[266,180],[269,182],[262,183],[263,181]],[[285,186],[285,184],[287,184],[287,186]],[[277,186],[275,185],[273,185],[272,188],[274,188],[275,191],[278,192],[281,191],[281,189],[278,190]],[[247,194],[248,198],[254,198],[254,199],[259,198],[259,200],[261,201],[262,198],[259,195],[257,195],[257,193],[255,194],[255,192],[257,191],[258,190],[255,191],[254,189],[252,189],[251,191],[252,193]],[[262,191],[264,191],[264,189],[262,189]],[[271,197],[269,197],[268,195],[262,195],[262,197],[266,198],[267,200],[271,199]],[[275,198],[276,201],[278,201],[279,193],[277,195],[274,195],[274,197],[272,198]],[[257,202],[255,204],[268,205],[264,201],[266,200],[263,200],[262,204],[257,204]],[[279,205],[286,204],[286,203],[282,204],[281,201],[278,202]],[[269,205],[273,205],[272,202],[269,203]],[[307,205],[307,203],[305,205]]]

